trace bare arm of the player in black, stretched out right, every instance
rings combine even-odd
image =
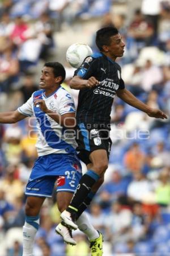
[[[118,90],[117,96],[121,98],[121,100],[133,106],[134,108],[142,110],[150,117],[162,118],[162,119],[168,118],[167,115],[163,113],[160,109],[152,109],[142,101],[138,100],[131,92],[129,92],[129,90],[126,90],[126,89]]]

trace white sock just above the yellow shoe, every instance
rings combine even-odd
[[[76,224],[78,225],[79,230],[86,234],[88,240],[91,241],[99,237],[99,233],[94,228],[94,226],[91,225],[88,216],[85,212],[83,212],[80,215],[80,217],[76,221]]]

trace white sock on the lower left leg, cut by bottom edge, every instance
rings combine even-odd
[[[27,222],[24,223],[23,226],[23,256],[32,256],[33,251],[33,242],[35,240],[35,236],[37,233],[37,229]]]

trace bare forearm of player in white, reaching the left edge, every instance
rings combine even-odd
[[[11,112],[3,112],[0,113],[0,123],[16,123],[26,117],[27,115],[19,113],[18,110]]]

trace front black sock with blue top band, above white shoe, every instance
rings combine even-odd
[[[80,205],[86,199],[88,193],[90,193],[91,191],[92,185],[94,185],[98,179],[99,175],[91,170],[88,170],[86,174],[82,176],[82,179],[80,179],[79,181],[78,187],[76,188],[71,203],[67,208],[69,212],[78,213]]]

